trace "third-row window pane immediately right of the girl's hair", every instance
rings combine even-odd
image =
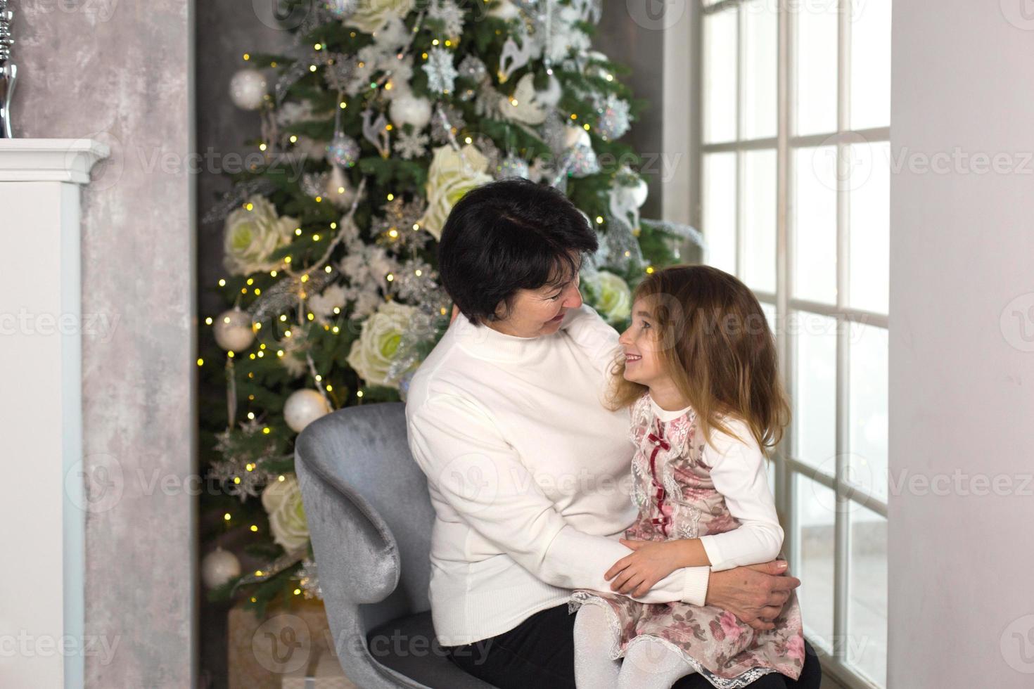
[[[837,320],[794,312],[793,457],[833,475],[837,471]]]

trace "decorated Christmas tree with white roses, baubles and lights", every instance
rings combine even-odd
[[[590,50],[598,1],[305,7],[291,54],[245,55],[231,83],[262,117],[263,162],[205,218],[223,225],[227,310],[207,319],[200,361],[226,386],[225,413],[203,414],[217,490],[202,567],[213,598],[258,607],[320,595],[294,438],[335,409],[404,400],[450,322],[436,244],[466,191],[514,177],[561,189],[599,232],[583,295],[618,330],[630,288],[697,238],[639,217],[641,161],[619,139],[645,103]],[[242,532],[257,563],[243,574],[216,549]]]

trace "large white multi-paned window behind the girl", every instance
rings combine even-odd
[[[777,334],[793,422],[773,481],[805,634],[886,684],[890,0],[703,0],[707,262]]]

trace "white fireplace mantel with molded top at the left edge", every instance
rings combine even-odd
[[[82,687],[84,531],[80,188],[90,139],[0,139],[0,657],[10,686]]]

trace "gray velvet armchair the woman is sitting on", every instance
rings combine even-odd
[[[337,656],[364,689],[492,689],[434,639],[427,584],[434,510],[400,402],[346,407],[295,444]]]

